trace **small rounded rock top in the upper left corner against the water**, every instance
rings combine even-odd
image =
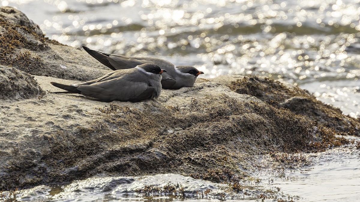
[[[0,18],[8,20],[10,23],[27,27],[30,31],[35,32],[37,35],[43,34],[39,25],[32,22],[32,20],[29,20],[24,13],[13,7],[0,7]]]

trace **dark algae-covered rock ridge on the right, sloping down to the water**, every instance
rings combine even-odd
[[[229,76],[226,76],[228,78]],[[221,79],[217,78],[217,79]],[[231,81],[231,79],[225,79]],[[340,109],[316,100],[308,91],[287,82],[269,78],[244,77],[225,83],[234,92],[246,93],[280,109],[302,115],[316,125],[331,128],[346,135],[360,136],[360,121],[343,115]]]

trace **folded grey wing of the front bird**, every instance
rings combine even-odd
[[[121,81],[112,79],[91,85],[81,85],[77,88],[82,95],[96,98],[100,101],[138,101],[151,98],[154,88],[147,83]]]

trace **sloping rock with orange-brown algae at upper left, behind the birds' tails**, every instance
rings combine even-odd
[[[37,35],[20,11],[11,7],[0,7],[0,11],[0,64],[32,75],[77,81],[95,79],[111,71],[84,50]]]

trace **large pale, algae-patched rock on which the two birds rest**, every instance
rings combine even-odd
[[[74,82],[35,79],[47,92],[57,90],[50,81]],[[223,182],[229,174],[222,172],[255,170],[256,155],[306,150],[314,139],[311,121],[212,82],[164,90],[157,101],[105,103],[48,93],[0,105],[6,106],[0,115],[1,189],[98,174],[208,179],[210,172],[210,179]],[[335,133],[326,135],[324,144],[338,141]]]

